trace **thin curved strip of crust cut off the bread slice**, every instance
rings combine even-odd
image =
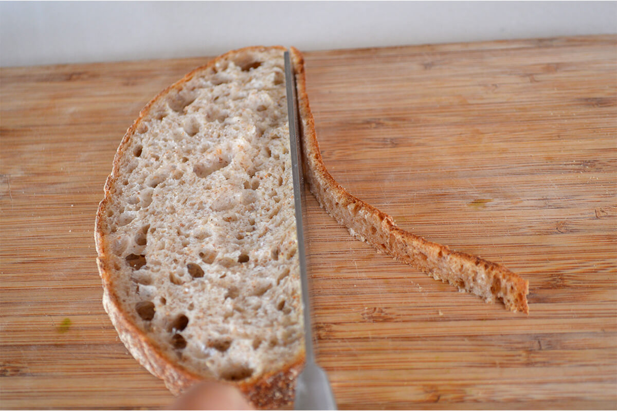
[[[350,195],[334,180],[323,163],[315,135],[306,92],[304,58],[294,47],[291,50],[296,70],[305,178],[320,205],[340,224],[349,227],[352,234],[379,251],[486,301],[501,299],[511,311],[529,312],[529,284],[526,280],[499,264],[451,251],[447,246],[428,242],[400,229],[390,216]]]

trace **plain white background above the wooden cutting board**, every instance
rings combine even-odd
[[[0,65],[617,33],[617,2],[0,2]]]

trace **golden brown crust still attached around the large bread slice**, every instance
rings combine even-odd
[[[160,349],[154,341],[147,337],[147,335],[140,330],[131,320],[130,315],[123,311],[122,306],[118,301],[118,296],[114,291],[112,284],[112,277],[110,272],[112,267],[109,267],[110,250],[109,244],[104,237],[103,221],[106,216],[107,205],[110,202],[110,198],[114,195],[113,189],[115,182],[118,179],[120,160],[122,159],[126,148],[129,146],[131,137],[135,134],[139,124],[149,115],[152,107],[157,102],[167,96],[175,89],[180,89],[183,84],[189,81],[193,76],[201,73],[205,70],[215,67],[215,64],[222,59],[227,59],[234,54],[240,54],[247,51],[263,51],[265,49],[280,49],[284,50],[284,47],[245,47],[230,51],[223,54],[216,59],[210,60],[209,63],[202,67],[198,67],[189,72],[180,81],[167,87],[164,91],[161,91],[154,97],[141,112],[139,112],[138,118],[128,128],[124,135],[122,142],[117,149],[112,165],[112,173],[107,177],[107,181],[104,188],[104,198],[99,204],[99,208],[96,214],[96,222],[94,226],[94,238],[96,242],[96,251],[98,254],[97,265],[99,268],[99,274],[101,275],[103,285],[103,304],[109,314],[112,324],[120,336],[120,340],[125,344],[128,351],[131,352],[133,357],[138,360],[139,364],[143,365],[153,375],[161,378],[165,382],[165,386],[172,391],[173,394],[178,395],[189,389],[194,383],[207,378],[214,379],[213,376],[196,375],[190,372],[184,367],[181,367],[173,359],[167,357],[162,349]],[[284,405],[289,405],[293,399],[293,393],[295,388],[296,376],[300,372],[304,365],[304,351],[300,352],[296,359],[292,360],[289,364],[284,365],[281,370],[270,373],[268,375],[256,376],[250,380],[239,381],[238,383],[230,383],[238,386],[242,393],[249,398],[249,400],[260,408],[278,408]]]

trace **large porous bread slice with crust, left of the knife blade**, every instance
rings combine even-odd
[[[105,307],[175,393],[291,399],[304,360],[282,47],[230,52],[155,97],[97,214]]]

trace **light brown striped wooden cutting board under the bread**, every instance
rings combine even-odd
[[[341,409],[617,407],[617,36],[306,53],[326,165],[400,227],[529,280],[529,315],[350,237],[313,197]],[[94,215],[126,128],[208,59],[0,71],[0,408],[164,408],[101,304]]]

